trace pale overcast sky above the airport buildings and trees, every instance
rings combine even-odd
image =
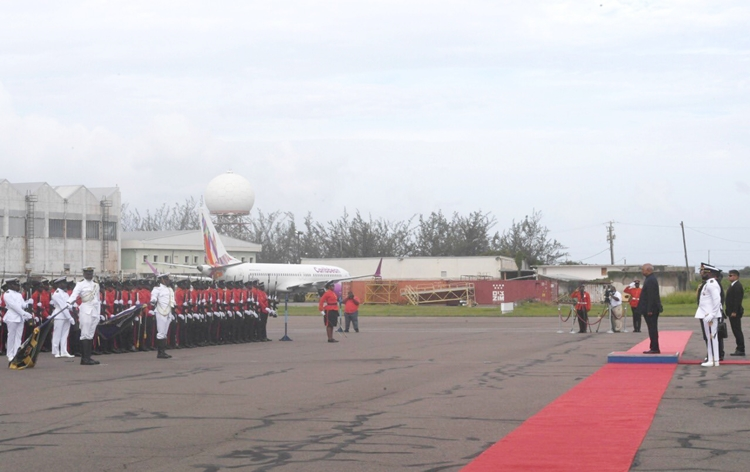
[[[298,223],[541,211],[571,260],[750,266],[745,1],[0,3],[0,178]]]

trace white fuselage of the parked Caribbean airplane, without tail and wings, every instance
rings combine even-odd
[[[242,281],[258,280],[266,284],[269,292],[309,291],[313,284],[328,280],[349,278],[349,272],[340,267],[317,264],[262,264],[245,262],[226,269],[212,269],[202,266],[201,273],[216,280]],[[308,286],[308,288],[304,288]],[[290,289],[290,287],[293,287]],[[296,287],[296,288],[295,288]]]

